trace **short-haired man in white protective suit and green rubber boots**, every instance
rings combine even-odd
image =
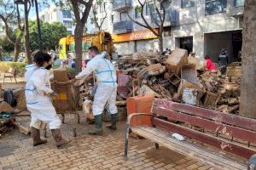
[[[111,113],[111,125],[107,127],[116,130],[116,116],[118,113],[116,102],[117,82],[116,71],[113,64],[105,59],[106,52],[99,54],[96,46],[89,48],[89,55],[92,57],[86,68],[81,71],[76,79],[89,76],[94,72],[96,76],[96,94],[92,105],[92,113],[96,120],[96,129],[90,131],[90,134],[102,135],[102,111],[108,102],[108,111]]]

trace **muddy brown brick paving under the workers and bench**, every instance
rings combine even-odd
[[[105,125],[103,125],[105,126]],[[79,136],[73,138],[73,127]],[[185,157],[170,161],[148,152],[157,151],[148,139],[130,139],[128,160],[124,159],[125,122],[118,123],[117,131],[104,129],[103,136],[90,136],[86,132],[94,125],[77,124],[73,116],[67,115],[61,132],[73,143],[60,149],[55,147],[52,134],[47,132],[47,144],[32,146],[31,136],[20,134],[17,129],[9,131],[0,140],[0,169],[47,169],[47,170],[141,170],[141,169],[189,169],[207,170],[211,167]],[[168,150],[161,148],[161,150]]]

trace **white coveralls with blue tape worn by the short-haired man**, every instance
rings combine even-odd
[[[106,52],[96,55],[91,59],[86,68],[81,71],[76,78],[89,76],[92,72],[96,75],[96,94],[92,105],[94,116],[101,115],[104,106],[108,102],[108,111],[111,114],[118,112],[115,105],[117,94],[116,71],[113,64],[105,59]]]

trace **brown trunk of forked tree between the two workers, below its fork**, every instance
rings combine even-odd
[[[75,31],[75,53],[76,53],[76,70],[82,71],[82,42],[83,42],[83,26],[80,22],[77,22]]]

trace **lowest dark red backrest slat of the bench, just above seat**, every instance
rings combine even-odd
[[[187,136],[192,139],[197,139],[205,144],[210,144],[219,149],[236,154],[237,156],[242,156],[244,158],[249,159],[251,156],[253,156],[253,154],[256,154],[256,150],[253,150],[251,148],[246,148],[239,144],[233,144],[230,141],[227,141],[224,139],[218,139],[206,133],[199,133],[187,127],[182,127],[177,124],[166,122],[155,117],[151,118],[151,122],[156,127],[161,127],[161,128],[170,130],[172,132],[181,133],[184,136]]]

